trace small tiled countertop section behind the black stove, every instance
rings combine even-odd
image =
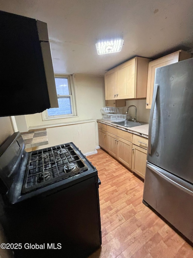
[[[46,129],[21,132],[21,136],[24,139],[26,149],[48,144]]]

